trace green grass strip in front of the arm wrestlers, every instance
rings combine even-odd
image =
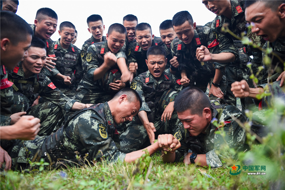
[[[137,164],[96,162],[91,167],[32,173],[1,171],[1,189],[268,189],[272,185],[267,174],[253,176],[242,172],[233,176],[229,174],[231,167],[165,164],[159,153],[150,162],[146,160]]]

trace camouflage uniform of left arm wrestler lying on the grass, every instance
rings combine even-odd
[[[49,162],[66,159],[78,162],[75,155],[86,154],[88,161],[123,161],[125,154],[119,152],[113,140],[116,133],[108,103],[97,104],[74,115],[65,125],[50,136],[37,136],[34,140],[16,140],[13,146],[3,147],[12,158],[12,168],[25,168],[28,159],[39,151],[38,157]],[[75,153],[78,151],[78,153]],[[27,154],[30,152],[30,154]],[[59,160],[64,162],[64,160]]]

